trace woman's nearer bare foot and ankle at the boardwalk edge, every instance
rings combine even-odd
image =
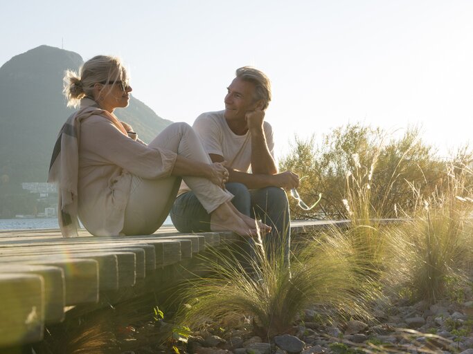
[[[211,231],[233,231],[240,236],[257,236],[255,221],[251,225],[233,211],[231,203],[223,203],[211,213]],[[232,205],[233,206],[233,205]]]

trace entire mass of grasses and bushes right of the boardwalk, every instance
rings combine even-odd
[[[292,215],[348,218],[350,227],[299,243],[290,270],[262,252],[248,260],[250,270],[216,252],[205,262],[213,275],[191,283],[184,322],[202,330],[243,313],[274,335],[290,331],[307,306],[328,321],[369,319],[380,299],[458,296],[473,261],[470,158],[463,149],[451,162],[438,160],[417,129],[388,140],[380,129],[350,125],[321,146],[296,138],[281,168],[305,177],[298,189],[308,204],[320,192],[323,199],[319,210],[292,204]],[[406,221],[381,220],[391,217]]]

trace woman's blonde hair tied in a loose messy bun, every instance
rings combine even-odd
[[[77,107],[80,100],[86,96],[93,97],[93,85],[97,82],[126,81],[126,70],[121,59],[109,55],[97,55],[87,60],[75,71],[66,70],[64,75],[64,90],[68,107]]]

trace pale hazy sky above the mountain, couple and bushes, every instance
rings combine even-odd
[[[253,65],[278,156],[348,122],[420,124],[445,155],[472,134],[472,19],[471,0],[2,1],[0,65],[42,44],[119,55],[136,98],[190,124]]]

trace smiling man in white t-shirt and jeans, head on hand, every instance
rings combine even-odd
[[[264,243],[269,254],[284,250],[289,255],[290,220],[285,190],[298,187],[292,171],[278,173],[274,161],[271,125],[265,109],[271,100],[271,84],[261,71],[244,66],[225,96],[225,110],[199,115],[193,128],[213,162],[224,162],[229,170],[226,189],[235,197],[233,205],[248,216],[260,218],[272,230]],[[210,230],[210,217],[185,185],[172,210],[171,218],[180,232]],[[281,248],[284,246],[284,248]]]

